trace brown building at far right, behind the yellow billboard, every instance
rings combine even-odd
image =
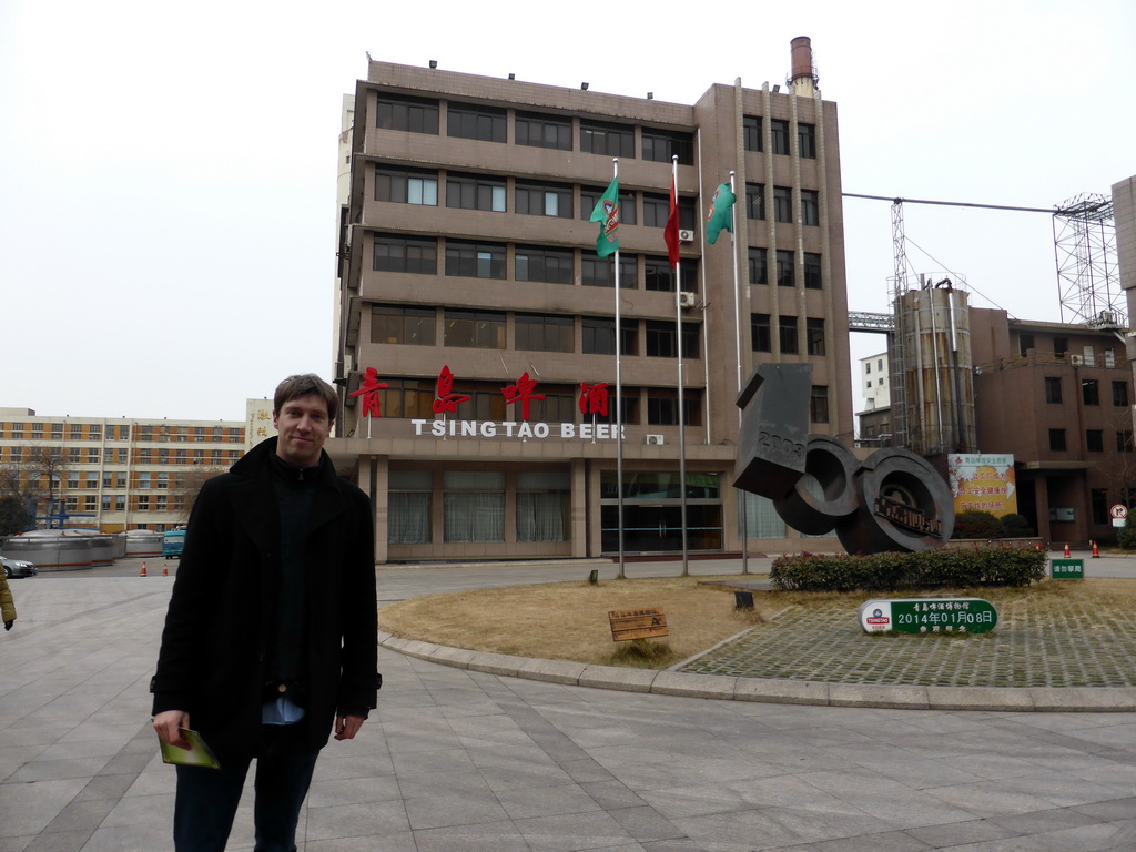
[[[1133,371],[1117,328],[971,308],[978,448],[1012,453],[1018,510],[1051,542],[1110,537],[1136,503]]]

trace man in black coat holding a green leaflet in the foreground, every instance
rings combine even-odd
[[[269,438],[201,488],[151,683],[153,727],[201,734],[220,770],[177,767],[177,852],[224,852],[253,758],[256,852],[295,852],[334,725],[351,740],[376,704],[373,510],[323,451],[336,410],[315,375],[276,389]]]

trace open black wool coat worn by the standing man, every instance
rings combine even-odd
[[[279,509],[269,438],[201,488],[185,535],[151,682],[154,715],[184,710],[224,763],[256,755],[265,665],[273,646]],[[303,550],[306,742],[321,749],[336,712],[375,707],[378,633],[374,512],[326,453]]]

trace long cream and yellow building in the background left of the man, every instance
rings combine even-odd
[[[184,524],[201,481],[245,450],[245,424],[229,420],[37,417],[0,409],[0,469],[22,482],[45,526],[105,533]],[[53,479],[53,482],[49,482]],[[28,487],[32,481],[32,487]]]

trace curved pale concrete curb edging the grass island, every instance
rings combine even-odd
[[[567,660],[483,653],[378,634],[379,645],[452,668],[596,690],[655,693],[769,704],[874,707],[903,710],[1010,712],[1133,712],[1136,687],[880,686],[816,680],[762,679],[653,669],[588,666]]]

